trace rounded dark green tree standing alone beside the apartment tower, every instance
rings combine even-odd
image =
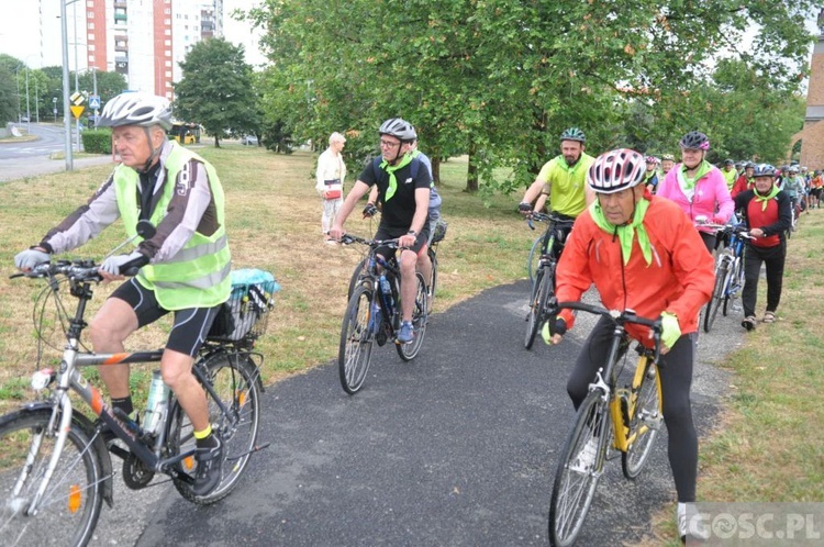
[[[252,66],[243,46],[223,38],[198,42],[180,63],[182,79],[175,85],[175,116],[201,124],[220,139],[257,133],[257,100]]]

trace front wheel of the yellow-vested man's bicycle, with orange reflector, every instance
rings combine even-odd
[[[52,409],[19,411],[0,417],[0,538],[3,545],[41,546],[89,543],[100,516],[102,466],[91,448],[90,432],[73,420],[66,444],[34,516],[23,514],[54,451],[54,432],[43,434]],[[40,437],[34,461],[26,465]],[[14,495],[24,469],[27,479]],[[12,498],[14,495],[14,498]],[[8,542],[8,543],[7,543]]]

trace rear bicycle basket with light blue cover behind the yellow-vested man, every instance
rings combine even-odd
[[[268,271],[244,268],[232,271],[232,292],[207,336],[210,341],[237,342],[266,332],[275,293],[280,286]]]

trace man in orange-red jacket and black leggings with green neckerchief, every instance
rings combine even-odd
[[[712,295],[714,263],[690,219],[673,202],[652,196],[642,183],[644,157],[630,149],[599,156],[587,174],[593,202],[575,223],[558,263],[558,301],[578,301],[592,283],[608,309],[635,310],[661,317],[659,378],[664,421],[669,432],[669,462],[678,493],[678,525],[687,533],[687,503],[695,501],[698,437],[690,386],[698,314]],[[558,344],[572,327],[563,311],[544,338]],[[554,326],[554,333],[549,333]],[[613,322],[602,317],[584,342],[567,391],[576,409],[595,371],[604,366]],[[647,327],[627,325],[630,336],[652,346]],[[586,451],[586,450],[584,450]]]

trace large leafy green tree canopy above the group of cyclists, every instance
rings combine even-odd
[[[266,116],[298,139],[345,130],[346,153],[364,156],[376,152],[380,121],[402,115],[427,154],[469,153],[470,174],[508,190],[558,154],[570,125],[586,131],[592,153],[677,143],[715,119],[699,99],[728,91],[713,80],[722,58],[786,102],[805,71],[811,36],[801,22],[814,9],[812,0],[409,0],[402,9],[267,0],[250,16],[271,52]],[[638,115],[654,121],[654,141],[624,133]],[[512,175],[493,181],[495,167]]]

